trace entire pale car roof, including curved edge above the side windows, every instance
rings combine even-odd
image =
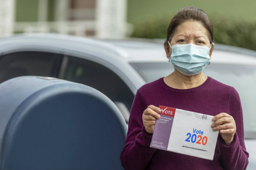
[[[127,62],[168,61],[163,47],[164,39],[96,39],[60,35],[55,33],[33,33],[1,38],[0,46],[6,43],[8,44],[8,41],[10,42],[10,46],[12,46],[11,42],[16,41],[20,42],[20,48],[26,45],[30,46],[30,48],[37,46],[34,48],[37,49],[41,47],[37,50],[44,50],[47,48],[48,52],[54,52],[55,49],[58,53],[61,53],[61,50],[80,52],[92,50],[92,52],[98,51],[102,54],[110,53],[113,54],[112,56],[115,56],[118,59],[126,60]],[[26,44],[24,44],[25,41]],[[1,54],[5,53],[5,51],[1,49],[0,52]],[[13,52],[15,52],[15,50]],[[256,65],[256,51],[223,44],[215,44],[215,49],[211,57],[211,63]]]

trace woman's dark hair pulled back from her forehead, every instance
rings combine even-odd
[[[207,14],[199,8],[196,7],[184,7],[181,8],[171,20],[169,27],[167,29],[167,37],[165,43],[168,45],[167,41],[171,41],[174,33],[176,32],[176,29],[178,25],[181,23],[184,23],[185,21],[199,21],[204,25],[204,27],[208,31],[208,37],[210,40],[210,43],[213,42],[213,28],[210,19],[208,18]]]

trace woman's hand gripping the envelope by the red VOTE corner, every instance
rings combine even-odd
[[[155,120],[160,118],[160,115],[158,114],[159,112],[161,112],[161,109],[153,105],[149,105],[144,110],[142,115],[142,121],[148,133],[153,133],[155,127]]]

